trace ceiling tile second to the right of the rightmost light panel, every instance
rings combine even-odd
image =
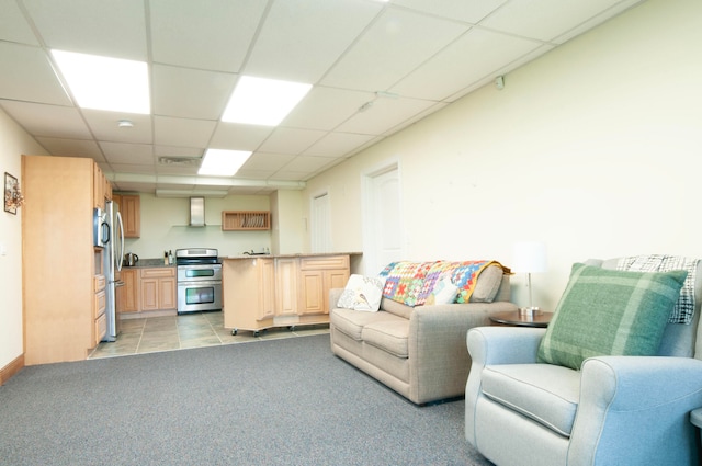
[[[434,104],[432,101],[416,99],[376,99],[369,110],[356,113],[337,130],[365,135],[384,134]]]

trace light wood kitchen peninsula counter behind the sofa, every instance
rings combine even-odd
[[[329,323],[329,289],[344,287],[360,252],[222,257],[224,327],[233,334]]]

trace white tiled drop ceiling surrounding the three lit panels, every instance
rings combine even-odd
[[[302,189],[639,1],[0,0],[0,107],[117,190]],[[79,109],[54,48],[147,61],[151,113]],[[223,123],[242,75],[314,87],[278,127]],[[235,177],[197,177],[206,148],[253,155]]]

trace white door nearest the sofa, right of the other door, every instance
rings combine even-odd
[[[388,263],[405,259],[397,163],[366,174],[363,186],[363,262],[365,273],[375,275]]]

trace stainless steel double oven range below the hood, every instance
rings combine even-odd
[[[210,248],[176,250],[178,314],[222,309],[222,263]]]

